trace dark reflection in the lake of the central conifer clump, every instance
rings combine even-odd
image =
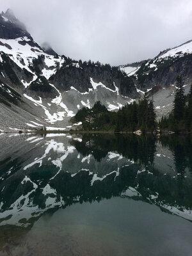
[[[156,152],[156,137],[136,136],[132,134],[83,134],[82,141],[72,141],[78,152],[83,156],[92,156],[101,161],[108,155],[108,152],[118,152],[121,156],[127,157],[134,163],[153,164]]]

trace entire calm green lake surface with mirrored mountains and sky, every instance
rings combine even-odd
[[[191,138],[0,139],[0,255],[192,255]]]

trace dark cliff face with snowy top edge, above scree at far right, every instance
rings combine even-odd
[[[184,84],[192,81],[192,41],[186,42],[142,63],[136,75],[140,88],[166,87],[175,84],[178,74]]]

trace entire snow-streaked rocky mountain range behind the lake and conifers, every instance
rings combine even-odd
[[[177,74],[191,81],[192,42],[156,58],[119,67],[76,61],[38,45],[11,10],[0,15],[0,130],[61,127],[78,109],[100,100],[116,110],[154,93],[157,113],[171,109]],[[188,87],[188,86],[187,86]],[[186,88],[187,89],[187,88]],[[77,124],[78,125],[78,124]]]

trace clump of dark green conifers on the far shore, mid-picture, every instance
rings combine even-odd
[[[156,114],[152,100],[147,97],[135,101],[119,109],[117,112],[108,109],[96,102],[92,109],[82,108],[72,122],[82,122],[84,131],[116,131],[133,132],[141,129],[143,132],[156,130]]]

